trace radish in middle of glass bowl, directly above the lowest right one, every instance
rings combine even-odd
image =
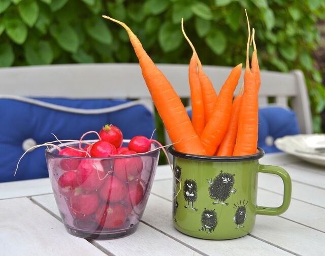
[[[100,190],[101,198],[110,203],[121,201],[126,195],[126,186],[116,177],[108,176]]]

